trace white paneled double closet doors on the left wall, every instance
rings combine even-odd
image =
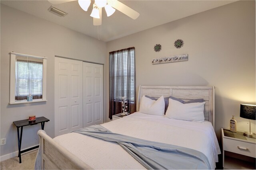
[[[55,57],[55,136],[103,123],[103,65]]]

